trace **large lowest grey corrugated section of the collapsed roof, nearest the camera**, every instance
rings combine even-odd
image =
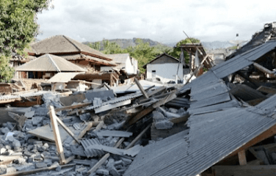
[[[135,158],[139,159],[139,164],[134,161],[125,175],[197,175],[268,130],[276,120],[243,108],[233,108],[193,115],[188,124],[190,132],[186,140],[178,136],[179,141],[173,139],[170,142],[172,147],[161,155],[153,158],[144,155],[141,161],[139,157],[146,153],[145,147]],[[170,141],[171,137],[166,139]],[[156,144],[151,146],[151,150],[162,152],[164,145],[161,142]]]

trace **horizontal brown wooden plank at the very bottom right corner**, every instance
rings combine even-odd
[[[276,173],[276,165],[264,166],[213,166],[215,176],[271,176]]]

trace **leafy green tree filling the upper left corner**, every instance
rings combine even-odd
[[[38,34],[37,13],[48,8],[51,0],[0,1],[0,81],[9,81],[14,70],[10,68],[12,52],[23,54]]]

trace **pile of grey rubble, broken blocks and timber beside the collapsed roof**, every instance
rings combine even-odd
[[[177,95],[176,87],[135,81],[136,88],[119,88],[117,93],[107,88],[69,96],[32,92],[43,103],[3,108],[0,173],[123,175],[141,148],[152,142],[152,123],[151,130],[158,132],[188,119],[188,99]]]

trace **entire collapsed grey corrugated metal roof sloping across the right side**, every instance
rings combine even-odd
[[[242,108],[235,99],[230,100],[228,92],[224,93],[225,87],[219,85],[220,78],[249,66],[252,61],[275,47],[276,41],[265,43],[255,50],[221,63],[181,88],[179,93],[190,89],[194,99],[188,109],[192,110],[187,122],[189,134],[178,133],[146,146],[124,175],[197,175],[275,126],[276,95],[255,107]],[[212,89],[213,86],[219,88],[219,91]],[[214,97],[202,100],[197,96],[201,92]],[[218,97],[222,95],[225,99],[221,104]],[[217,104],[208,103],[210,99]],[[238,107],[233,108],[235,106]],[[220,111],[210,113],[213,110]]]

